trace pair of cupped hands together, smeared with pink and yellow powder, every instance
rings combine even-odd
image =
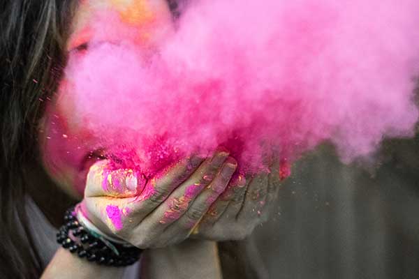
[[[225,150],[191,156],[140,186],[133,169],[91,166],[78,209],[108,236],[138,248],[160,248],[194,238],[235,240],[248,236],[277,196],[277,172],[244,177]]]

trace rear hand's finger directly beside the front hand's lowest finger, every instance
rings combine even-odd
[[[243,188],[246,186],[246,179],[242,174],[239,174],[228,183],[226,190],[219,196],[219,198],[210,206],[203,220],[200,221],[200,226],[212,226],[219,220],[226,211],[228,204],[240,195],[240,192],[244,192]]]

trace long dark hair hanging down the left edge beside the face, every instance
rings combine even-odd
[[[38,278],[27,173],[38,164],[44,100],[57,88],[75,0],[0,1],[0,278]]]

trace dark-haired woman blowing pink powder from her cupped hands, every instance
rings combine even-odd
[[[43,219],[59,227],[64,211],[78,202],[73,216],[88,232],[145,249],[142,278],[220,278],[214,241],[243,239],[263,220],[277,193],[277,173],[232,179],[237,163],[228,151],[185,158],[149,179],[138,196],[139,177],[131,170],[104,174],[110,161],[94,140],[86,144],[90,149],[63,140],[68,129],[78,128],[71,99],[60,98],[69,52],[89,51],[83,30],[94,24],[96,11],[135,15],[144,27],[145,6],[158,19],[146,27],[153,42],[170,30],[175,3],[169,9],[163,0],[1,2],[1,278],[139,278],[138,262],[107,267],[57,247],[52,258],[47,255]],[[115,190],[116,182],[123,190]],[[132,198],[133,206],[127,202]],[[242,269],[255,278],[249,270]]]

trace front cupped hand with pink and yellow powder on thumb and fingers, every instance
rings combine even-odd
[[[108,161],[87,176],[84,216],[98,229],[138,248],[159,248],[186,239],[223,193],[237,163],[225,151],[189,158],[138,188],[131,169],[108,172]]]

